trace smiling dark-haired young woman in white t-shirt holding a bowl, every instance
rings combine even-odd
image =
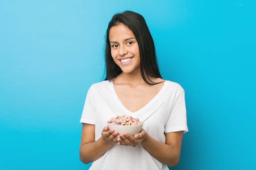
[[[141,15],[125,11],[113,16],[105,57],[106,79],[93,84],[85,99],[80,160],[92,162],[90,170],[175,166],[188,131],[184,90],[162,79],[153,38]],[[134,136],[108,129],[111,117],[131,115],[143,121],[155,110]]]

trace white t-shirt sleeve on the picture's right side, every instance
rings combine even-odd
[[[184,90],[175,96],[171,113],[165,126],[165,133],[183,131],[188,132],[186,121],[186,104]]]

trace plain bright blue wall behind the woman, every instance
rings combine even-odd
[[[186,93],[173,170],[255,169],[256,8],[249,0],[1,0],[0,169],[86,170],[85,96],[124,10],[146,19],[164,79]]]

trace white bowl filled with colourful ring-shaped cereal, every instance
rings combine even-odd
[[[108,128],[117,131],[119,134],[128,133],[134,136],[141,131],[143,126],[142,121],[132,116],[119,116],[112,117],[107,121]]]

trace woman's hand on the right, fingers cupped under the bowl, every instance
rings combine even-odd
[[[147,132],[142,128],[139,133],[136,133],[133,136],[129,135],[128,133],[117,135],[118,145],[124,146],[137,146],[141,144],[141,142],[146,138]]]

